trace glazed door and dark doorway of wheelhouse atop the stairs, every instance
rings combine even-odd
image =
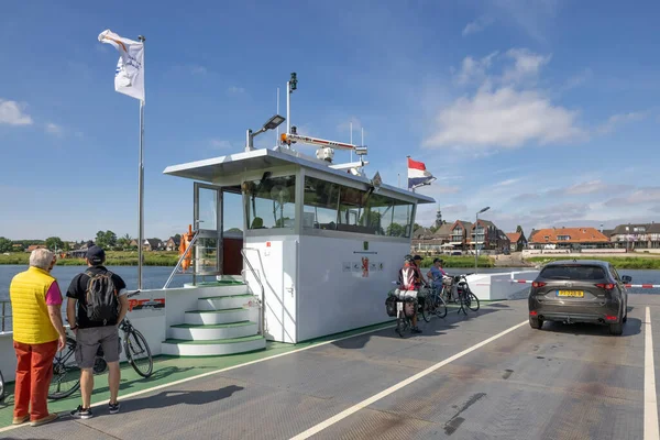
[[[243,268],[242,196],[240,187],[195,183],[197,275],[240,275]]]

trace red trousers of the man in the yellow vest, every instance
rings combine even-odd
[[[30,420],[48,415],[48,387],[53,377],[53,359],[57,341],[24,344],[14,341],[16,352],[16,382],[14,387],[14,417],[30,414]]]

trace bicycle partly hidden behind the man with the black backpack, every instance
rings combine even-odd
[[[128,295],[132,297],[139,295],[140,290]],[[120,322],[119,329],[123,331],[123,350],[127,360],[135,370],[135,373],[142,377],[150,377],[153,373],[154,361],[152,359],[151,349],[144,336],[136,330],[129,318]],[[120,338],[121,343],[121,338]],[[53,400],[62,399],[70,396],[80,387],[80,369],[76,365],[76,340],[72,337],[66,337],[66,346],[61,352],[57,352],[53,360],[53,378],[48,388],[48,398]],[[141,358],[143,355],[143,358]],[[145,361],[145,362],[141,362]],[[108,370],[108,363],[103,359],[103,349],[99,345],[97,350],[94,374],[102,374]],[[70,385],[66,385],[69,384]]]

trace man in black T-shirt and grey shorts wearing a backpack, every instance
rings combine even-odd
[[[70,413],[72,417],[88,419],[91,414],[94,389],[94,364],[97,350],[103,349],[108,363],[110,387],[109,413],[119,413],[120,370],[119,323],[129,310],[128,290],[123,279],[108,271],[106,252],[92,245],[87,250],[87,271],[76,275],[66,293],[66,315],[76,333],[76,363],[80,369],[80,394],[82,405]],[[77,307],[76,307],[77,306]]]

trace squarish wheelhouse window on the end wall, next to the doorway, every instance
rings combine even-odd
[[[293,229],[296,220],[296,176],[246,182],[249,229]]]

